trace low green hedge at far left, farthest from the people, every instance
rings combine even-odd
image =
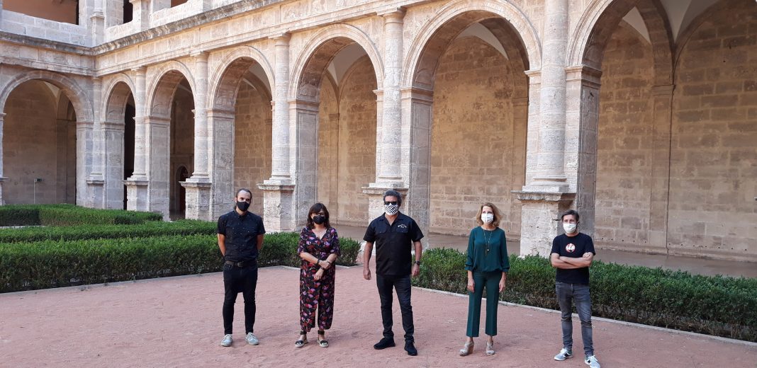
[[[152,212],[88,209],[67,204],[0,206],[0,227],[142,224],[145,221],[160,221],[162,218],[162,215]]]

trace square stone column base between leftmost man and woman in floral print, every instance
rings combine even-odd
[[[257,187],[263,190],[263,226],[266,227],[266,231],[297,230],[294,184],[276,184],[273,180],[266,180],[263,184],[257,184]]]

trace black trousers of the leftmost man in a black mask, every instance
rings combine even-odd
[[[232,333],[234,323],[234,303],[239,292],[245,297],[245,334],[253,332],[255,325],[255,287],[257,286],[257,264],[251,267],[223,265],[223,333]]]

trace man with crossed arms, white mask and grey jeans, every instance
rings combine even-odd
[[[578,218],[578,212],[572,209],[560,216],[565,233],[555,237],[550,252],[552,267],[557,269],[555,291],[562,312],[562,350],[555,355],[555,360],[573,356],[572,303],[575,301],[584,340],[584,362],[590,368],[600,368],[597,357],[594,357],[589,293],[589,266],[597,252],[591,237],[578,232]]]

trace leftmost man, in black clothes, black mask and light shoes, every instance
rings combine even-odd
[[[255,287],[257,286],[257,255],[263,248],[263,219],[248,212],[252,193],[240,189],[232,212],[218,218],[218,248],[223,255],[223,340],[221,346],[232,345],[234,303],[239,292],[245,297],[245,339],[257,345],[252,333],[255,324]]]

